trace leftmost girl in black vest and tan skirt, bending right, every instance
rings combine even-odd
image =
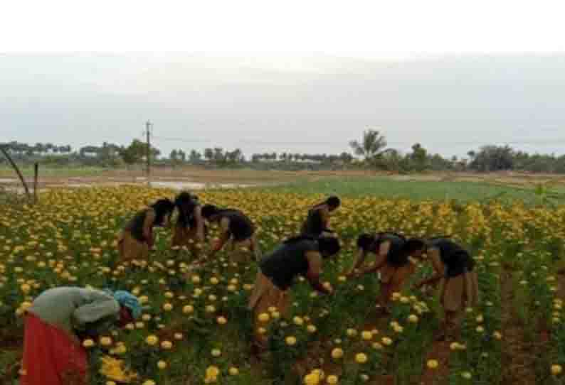
[[[167,226],[173,211],[174,203],[169,199],[161,199],[147,209],[137,212],[117,240],[121,260],[146,260],[155,243],[153,227]]]

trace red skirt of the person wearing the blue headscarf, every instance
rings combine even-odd
[[[21,385],[83,385],[88,353],[63,330],[26,315]]]

